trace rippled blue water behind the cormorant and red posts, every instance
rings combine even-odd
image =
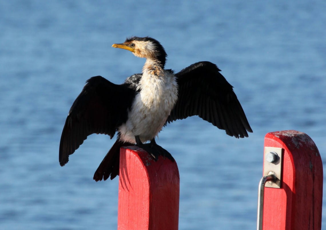
[[[216,63],[254,130],[238,140],[191,117],[159,134],[179,166],[179,228],[254,229],[267,132],[307,133],[326,162],[325,9],[325,1],[1,1],[0,229],[116,229],[118,179],[92,179],[114,140],[89,136],[65,167],[58,148],[89,77],[122,83],[141,72],[143,59],[111,48],[133,35],[159,40],[167,68]]]

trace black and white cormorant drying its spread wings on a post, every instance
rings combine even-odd
[[[252,132],[233,87],[215,64],[197,62],[174,73],[164,69],[166,56],[153,38],[132,37],[112,47],[146,58],[142,73],[123,84],[113,84],[101,76],[90,78],[74,101],[62,131],[59,162],[64,166],[70,154],[92,133],[117,131],[117,141],[98,166],[94,180],[119,175],[120,147],[136,144],[157,160],[159,155],[174,160],[155,142],[167,122],[198,115],[236,138]],[[150,141],[148,144],[144,142]]]

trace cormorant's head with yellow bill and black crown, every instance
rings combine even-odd
[[[157,59],[161,63],[162,68],[164,68],[167,54],[163,46],[154,38],[127,38],[124,43],[113,44],[112,47],[129,50],[136,57]]]

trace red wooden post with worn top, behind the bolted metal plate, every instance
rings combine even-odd
[[[263,230],[321,229],[323,169],[315,143],[287,130],[267,133],[264,146],[283,148],[284,155],[281,188],[265,187]]]

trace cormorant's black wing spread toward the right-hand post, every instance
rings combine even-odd
[[[197,62],[176,75],[179,97],[167,122],[198,115],[230,136],[252,132],[233,87],[211,62]]]

